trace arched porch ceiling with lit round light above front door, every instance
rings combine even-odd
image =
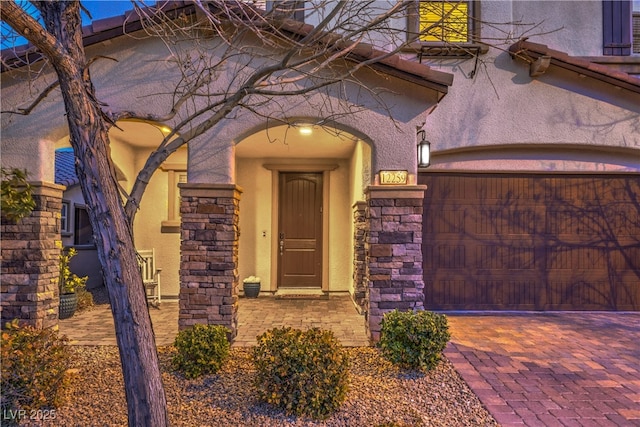
[[[344,131],[314,126],[310,135],[300,127],[276,126],[256,132],[238,143],[239,158],[339,158],[348,159],[358,138]]]

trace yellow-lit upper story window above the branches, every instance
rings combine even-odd
[[[420,41],[468,43],[472,41],[471,5],[468,1],[420,1]]]

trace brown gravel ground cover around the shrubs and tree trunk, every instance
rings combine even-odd
[[[72,351],[77,378],[68,403],[56,410],[54,420],[37,425],[127,425],[118,349],[74,346]],[[174,426],[497,426],[446,359],[421,374],[398,370],[376,348],[348,348],[347,400],[327,420],[314,421],[257,401],[249,348],[231,349],[221,372],[195,380],[172,372],[172,351],[159,349]]]

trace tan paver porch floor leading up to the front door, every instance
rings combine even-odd
[[[178,302],[164,300],[160,309],[151,308],[151,321],[156,344],[173,344],[178,333]],[[108,305],[76,313],[60,320],[60,333],[74,345],[116,345],[113,317]],[[238,336],[232,347],[256,344],[256,337],[267,329],[290,326],[298,329],[320,327],[333,331],[343,346],[369,345],[364,317],[360,315],[348,293],[331,294],[328,298],[240,298],[238,304]]]

